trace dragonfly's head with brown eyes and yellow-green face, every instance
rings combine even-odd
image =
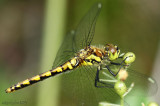
[[[105,46],[105,53],[109,60],[115,60],[118,58],[120,54],[120,50],[118,46],[113,44],[106,44]]]

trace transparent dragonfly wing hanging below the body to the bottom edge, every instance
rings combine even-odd
[[[83,66],[61,75],[60,106],[98,106],[99,102],[120,104],[112,88],[95,87],[96,68]],[[126,106],[127,103],[125,103]]]

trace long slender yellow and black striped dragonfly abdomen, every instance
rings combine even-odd
[[[44,72],[42,74],[39,74],[39,75],[36,75],[32,78],[29,78],[29,79],[26,79],[22,82],[19,82],[18,84],[16,85],[13,85],[11,86],[10,88],[6,89],[6,93],[11,93],[11,92],[14,92],[18,89],[21,89],[21,88],[24,88],[24,87],[27,87],[31,84],[34,84],[36,82],[39,82],[39,81],[42,81],[46,78],[49,78],[51,76],[55,76],[57,74],[60,74],[62,72],[65,72],[67,70],[72,70],[74,68],[76,68],[77,66],[79,66],[79,60],[75,57],[73,59],[71,59],[70,61],[64,63],[63,65],[53,69],[53,70],[49,70],[47,72]]]

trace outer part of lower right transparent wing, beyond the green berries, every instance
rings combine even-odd
[[[127,86],[134,83],[132,91],[129,93],[134,96],[151,96],[156,94],[158,87],[154,78],[136,72],[135,70],[127,69],[128,78],[125,81]]]

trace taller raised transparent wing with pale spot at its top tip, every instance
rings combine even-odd
[[[95,4],[89,12],[82,18],[74,36],[74,49],[78,51],[86,46],[89,46],[94,33],[97,17],[101,10],[101,4]]]

